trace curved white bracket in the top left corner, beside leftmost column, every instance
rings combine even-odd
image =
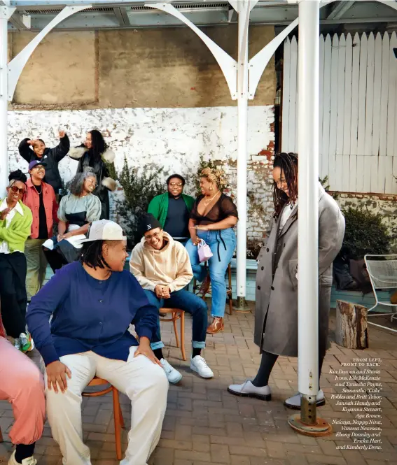
[[[78,11],[91,8],[91,5],[84,6],[65,6],[65,8],[55,16],[55,18],[47,24],[47,26],[35,36],[32,41],[30,41],[27,46],[21,50],[16,57],[14,57],[11,62],[8,63],[8,101],[12,101],[15,87],[17,87],[18,79],[24,69],[27,60],[34,52],[34,49],[39,45],[42,39],[54,29],[57,24],[65,20],[67,17],[78,13]],[[15,8],[10,8],[15,11]],[[12,14],[12,13],[11,13]]]

